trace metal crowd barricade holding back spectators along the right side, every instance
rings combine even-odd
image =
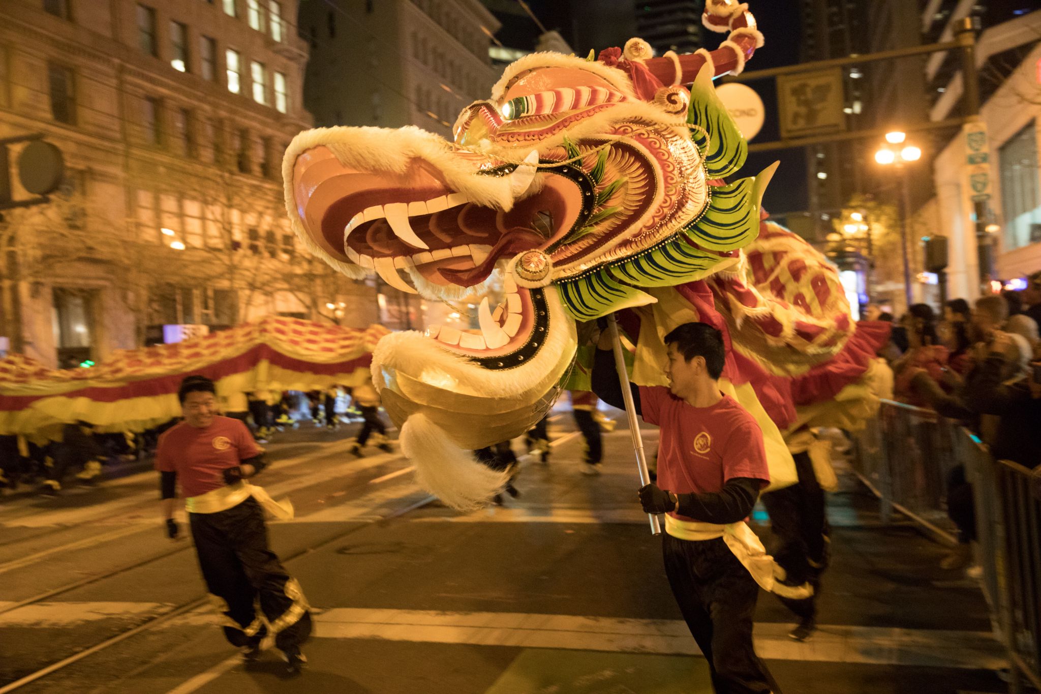
[[[1009,654],[1010,692],[1041,690],[1041,465],[995,462],[967,429],[892,401],[854,437],[853,464],[879,497],[884,522],[897,511],[945,543],[957,541],[945,517],[947,477],[965,466],[982,588]]]

